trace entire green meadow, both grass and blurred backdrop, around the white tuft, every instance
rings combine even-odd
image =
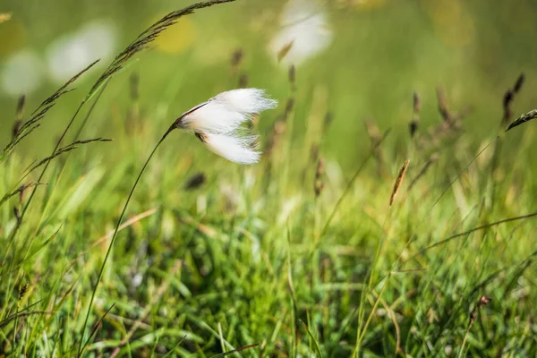
[[[537,226],[534,217],[497,222],[537,211],[537,127],[530,122],[501,134],[478,153],[503,132],[503,97],[521,73],[511,119],[537,107],[537,2],[303,3],[311,16],[323,14],[330,40],[294,64],[294,84],[285,49],[280,59],[270,50],[290,26],[280,22],[286,2],[237,0],[198,10],[108,83],[81,138],[114,141],[51,162],[47,185],[37,188],[14,243],[13,208],[25,199],[14,196],[0,206],[6,248],[0,250],[0,356],[76,355],[83,332],[89,356],[211,357],[253,344],[260,345],[241,356],[536,354]],[[11,13],[0,23],[0,77],[22,50],[37,59],[39,76],[28,93],[13,93],[7,89],[13,82],[3,80],[1,148],[11,139],[18,95],[26,94],[28,118],[62,85],[49,70],[57,38],[92,21],[107,23],[114,36],[106,58],[0,163],[0,196],[16,188],[33,160],[50,154],[114,55],[152,22],[189,4],[0,4],[0,13]],[[242,58],[234,65],[237,52]],[[86,56],[84,65],[97,59]],[[143,217],[118,235],[84,327],[105,235],[149,151],[176,117],[237,88],[241,77],[279,101],[256,124],[266,149],[275,124],[286,121],[275,147],[260,164],[238,166],[192,135],[172,133],[134,193],[127,219]],[[450,111],[465,115],[459,131],[430,139],[428,131],[442,122],[439,88]],[[412,139],[414,92],[420,122]],[[294,108],[286,116],[290,98]],[[366,121],[390,130],[372,156]],[[317,179],[312,147],[324,160]],[[437,160],[419,175],[433,154]],[[390,208],[406,159],[410,166]],[[199,173],[205,183],[186,190]],[[472,232],[451,238],[466,231]],[[479,306],[482,295],[492,301]]]

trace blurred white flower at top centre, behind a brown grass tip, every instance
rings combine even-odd
[[[302,64],[326,49],[332,41],[332,30],[322,9],[309,0],[291,0],[286,4],[280,21],[281,30],[269,44],[274,58],[288,48],[282,61]]]

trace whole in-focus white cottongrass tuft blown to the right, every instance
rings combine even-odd
[[[194,132],[196,137],[217,155],[240,164],[260,160],[255,150],[256,135],[241,124],[252,115],[277,106],[264,90],[240,89],[222,92],[207,102],[193,107],[176,121],[175,126]]]

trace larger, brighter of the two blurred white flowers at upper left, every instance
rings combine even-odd
[[[107,59],[113,55],[115,40],[115,26],[103,21],[89,22],[80,30],[57,38],[47,48],[50,76],[55,81],[66,81],[98,58]]]

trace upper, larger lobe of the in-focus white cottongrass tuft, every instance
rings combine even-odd
[[[277,101],[267,98],[264,90],[228,90],[186,112],[179,126],[204,133],[231,133],[251,115],[276,106]]]

